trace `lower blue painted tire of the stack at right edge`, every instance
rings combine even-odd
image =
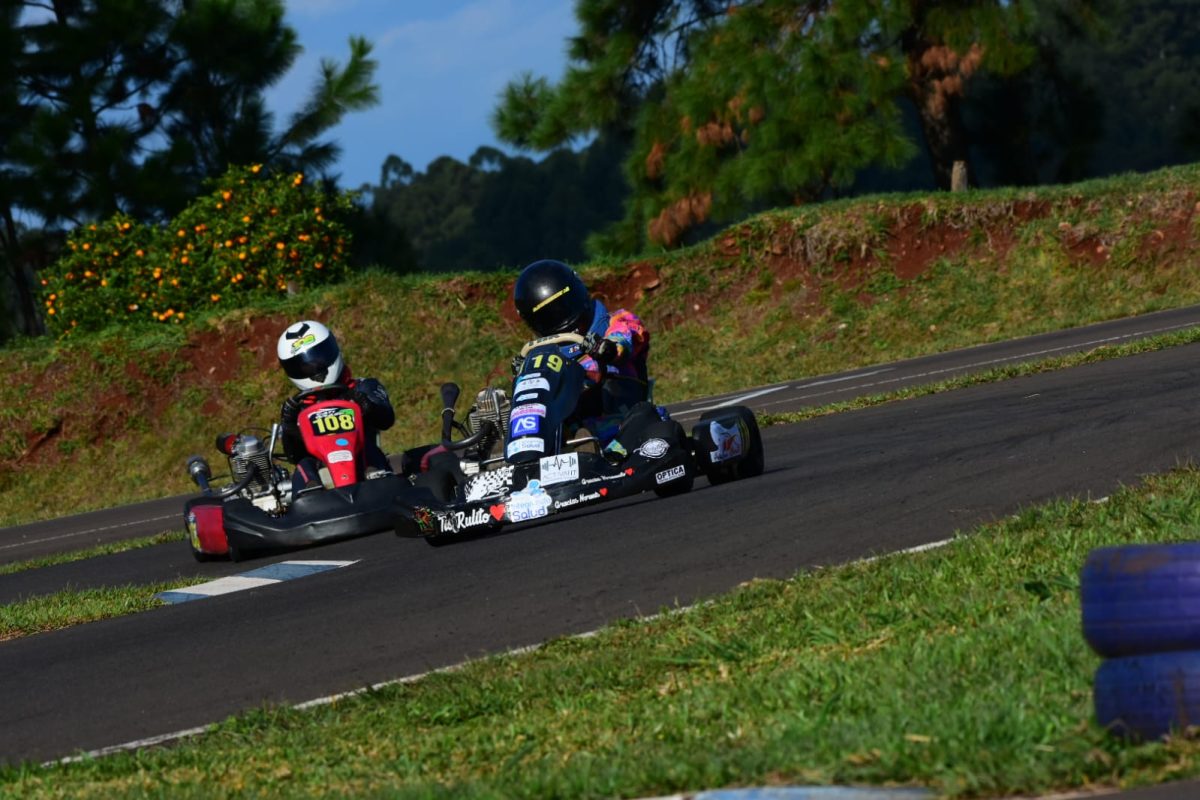
[[[1200,724],[1200,650],[1109,658],[1093,697],[1096,720],[1118,735],[1150,740]]]

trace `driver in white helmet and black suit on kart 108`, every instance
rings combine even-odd
[[[311,395],[298,398],[306,391],[324,386],[344,386],[349,390],[347,397],[362,409],[367,476],[380,470],[390,473],[391,465],[379,447],[378,432],[395,423],[396,411],[383,384],[374,378],[352,378],[334,333],[313,320],[289,325],[280,336],[275,350],[283,372],[299,390],[299,393],[283,401],[280,410],[283,453],[296,465],[292,475],[293,491],[320,486],[317,459],[305,449],[298,425],[301,408],[316,403],[317,398]]]

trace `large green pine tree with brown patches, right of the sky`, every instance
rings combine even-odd
[[[521,76],[493,125],[533,149],[629,131],[632,192],[606,241],[625,251],[902,164],[914,145],[901,103],[948,187],[968,157],[968,83],[1032,58],[1030,8],[1006,0],[581,0],[576,17],[560,83]]]

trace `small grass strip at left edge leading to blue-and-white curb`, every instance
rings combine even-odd
[[[166,603],[155,599],[156,594],[199,581],[203,578],[180,578],[145,587],[66,589],[0,606],[0,642],[158,608]]]

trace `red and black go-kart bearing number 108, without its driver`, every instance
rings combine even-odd
[[[347,393],[343,386],[324,386],[296,396],[316,401],[302,407],[299,426],[305,447],[319,462],[322,486],[293,494],[283,457],[275,453],[277,423],[265,443],[254,429],[217,438],[217,450],[229,459],[232,483],[224,488],[210,486],[212,471],[204,458],[187,459],[187,471],[203,493],[184,506],[197,560],[239,561],[395,527],[394,504],[397,495],[414,492],[412,482],[367,468],[362,409]]]

